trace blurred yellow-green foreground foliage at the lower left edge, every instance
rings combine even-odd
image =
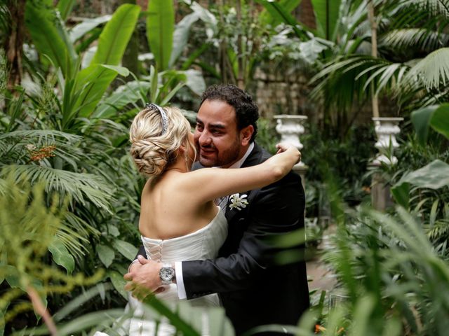
[[[29,183],[16,183],[12,176],[4,180],[4,193],[0,194],[0,279],[6,280],[10,289],[0,297],[2,328],[24,311],[34,308],[36,314],[42,314],[36,302],[21,303],[24,293],[32,300],[41,300],[45,307],[48,295],[68,293],[74,286],[95,283],[102,276],[102,272],[91,278],[67,274],[73,269],[73,258],[58,238],[58,232],[65,229],[62,218],[67,202],[52,197],[47,208],[43,189],[43,184],[31,188]],[[47,264],[48,251],[67,273]],[[40,298],[34,297],[34,292]]]

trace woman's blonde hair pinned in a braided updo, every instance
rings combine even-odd
[[[135,116],[130,127],[130,154],[141,174],[150,179],[160,176],[166,167],[176,161],[180,146],[186,146],[185,160],[189,148],[190,124],[175,107],[163,107],[168,117],[167,130],[163,132],[161,112],[145,107]]]

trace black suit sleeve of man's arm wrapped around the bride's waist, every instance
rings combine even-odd
[[[274,256],[284,251],[273,243],[276,237],[304,228],[304,190],[299,176],[290,173],[252,193],[255,197],[248,200],[245,219],[248,228],[236,253],[215,260],[182,262],[187,298],[248,288],[260,272],[275,264]]]

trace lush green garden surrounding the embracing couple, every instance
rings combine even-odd
[[[448,26],[447,0],[2,0],[0,335],[114,335],[145,182],[130,121],[154,102],[193,122],[214,83],[255,97],[270,151],[275,115],[308,117],[307,258],[335,286],[283,328],[447,335]],[[403,118],[397,147],[372,117]],[[195,309],[149,306],[198,335]]]

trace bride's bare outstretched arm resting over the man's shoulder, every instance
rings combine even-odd
[[[278,144],[276,147],[276,155],[260,165],[240,169],[204,168],[189,172],[185,174],[185,179],[179,181],[178,190],[184,190],[199,202],[207,202],[268,186],[286,176],[301,158],[301,153],[294,146]]]

